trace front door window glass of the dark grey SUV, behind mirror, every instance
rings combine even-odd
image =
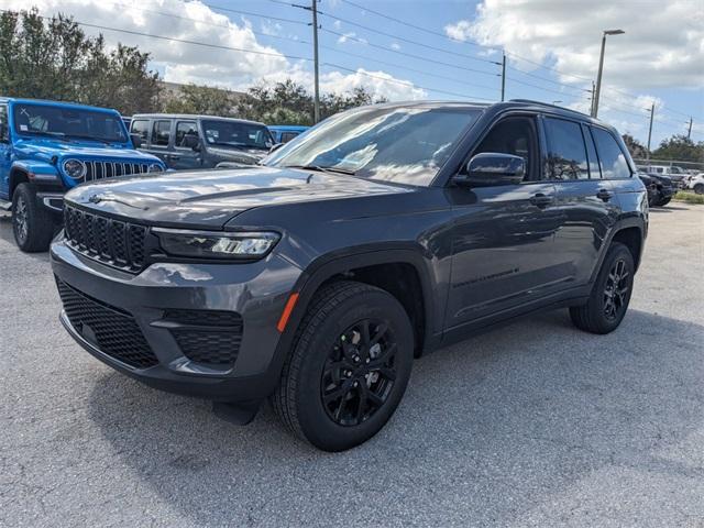
[[[506,118],[492,128],[472,155],[483,152],[513,154],[526,161],[525,182],[538,180],[538,141],[531,118]]]

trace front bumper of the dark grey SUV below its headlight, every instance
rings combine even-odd
[[[62,323],[84,349],[113,369],[155,388],[217,402],[258,400],[278,383],[276,323],[300,276],[288,261],[272,254],[246,264],[157,263],[132,275],[80,255],[57,239],[51,262],[59,290],[64,288]],[[67,300],[66,288],[73,300]],[[95,304],[92,319],[74,324],[68,314],[76,321],[75,304],[84,301]],[[189,314],[194,324],[198,320],[193,314],[241,318],[235,359],[227,364],[194,360],[167,317],[174,312]],[[106,321],[111,314],[122,319],[116,324]],[[152,354],[150,361],[125,360],[110,348],[117,342],[134,351],[134,340]]]

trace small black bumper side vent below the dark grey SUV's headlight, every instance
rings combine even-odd
[[[242,317],[222,310],[168,310],[164,319],[182,353],[196,363],[232,366],[242,342]]]

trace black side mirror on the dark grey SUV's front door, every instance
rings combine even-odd
[[[518,185],[526,175],[526,161],[513,154],[482,152],[470,160],[466,176],[458,178],[459,184],[469,187],[491,187],[495,185]]]

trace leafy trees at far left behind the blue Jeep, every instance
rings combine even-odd
[[[102,35],[88,37],[72,18],[47,22],[36,9],[0,14],[0,94],[82,102],[131,114],[158,106],[158,75],[148,53]]]

